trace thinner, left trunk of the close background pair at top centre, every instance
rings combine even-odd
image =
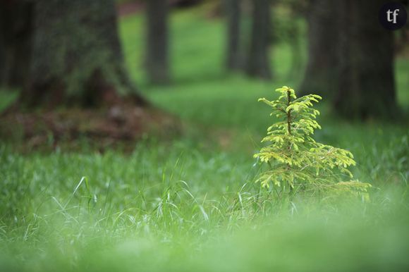
[[[225,0],[227,18],[226,66],[228,70],[241,67],[240,0]]]

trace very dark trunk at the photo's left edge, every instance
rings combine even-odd
[[[32,3],[0,1],[0,86],[23,87],[32,38]]]

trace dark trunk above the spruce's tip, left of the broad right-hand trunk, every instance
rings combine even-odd
[[[302,94],[334,94],[338,87],[339,0],[312,0],[307,11],[308,61]]]

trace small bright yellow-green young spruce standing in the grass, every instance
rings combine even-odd
[[[312,102],[322,98],[316,94],[297,98],[287,86],[276,92],[281,94],[277,100],[259,99],[271,106],[270,115],[279,121],[267,129],[267,136],[262,140],[269,144],[255,154],[255,158],[269,166],[256,182],[262,187],[281,187],[283,192],[286,188],[291,192],[297,185],[340,193],[366,192],[370,184],[351,180],[353,175],[348,166],[355,166],[353,154],[312,138],[314,130],[321,128],[315,120],[319,111],[312,108]],[[346,178],[348,181],[344,181]]]

